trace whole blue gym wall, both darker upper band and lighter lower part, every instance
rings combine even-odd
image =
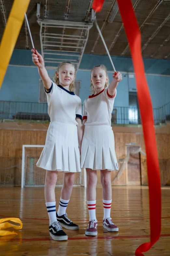
[[[69,58],[69,57],[68,57]],[[125,116],[128,123],[128,109],[119,107],[129,107],[129,92],[136,91],[135,77],[126,72],[133,72],[133,65],[131,58],[112,57],[116,69],[122,72],[123,80],[117,87],[117,97],[115,99],[115,107],[117,108],[117,116],[122,120],[121,116]],[[39,74],[38,70],[32,62],[31,52],[29,50],[15,49],[10,61],[11,66],[8,66],[5,79],[2,84],[0,92],[0,100],[6,101],[24,101],[24,102],[38,102],[39,101]],[[90,69],[94,65],[105,64],[108,70],[111,70],[110,61],[107,56],[87,55],[84,54],[80,70],[77,73],[77,80],[81,80],[80,98],[82,104],[90,92]],[[17,66],[21,65],[21,66]],[[152,99],[153,108],[159,108],[165,103],[170,102],[170,61],[169,60],[144,60],[146,75],[149,85],[149,91]],[[49,75],[54,74],[54,70],[48,70]],[[159,75],[158,75],[159,74]],[[169,76],[168,76],[169,75]],[[109,80],[112,79],[112,72],[108,72]],[[31,107],[30,107],[31,106]],[[40,104],[29,105],[23,104],[22,107],[12,107],[12,112],[31,111],[42,112],[39,110]],[[0,111],[1,107],[0,105]],[[122,113],[124,111],[124,113]],[[168,112],[167,112],[168,111]],[[170,114],[167,110],[166,114]],[[155,110],[155,119],[159,116],[159,111]],[[164,118],[164,116],[163,116]]]

